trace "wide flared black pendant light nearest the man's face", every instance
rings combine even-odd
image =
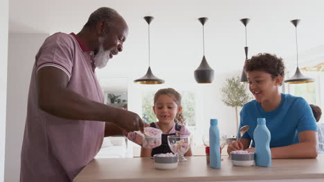
[[[150,67],[150,23],[154,19],[154,17],[144,17],[145,21],[148,24],[148,61],[149,61],[149,68],[147,69],[146,74],[144,77],[141,77],[139,79],[134,80],[134,83],[139,83],[139,84],[147,84],[147,85],[153,85],[153,84],[161,84],[164,83],[165,81],[163,79],[159,79],[154,76],[152,73],[151,67]]]

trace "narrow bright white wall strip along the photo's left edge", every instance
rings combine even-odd
[[[5,141],[6,141],[6,97],[8,63],[8,14],[9,1],[0,1],[0,181],[4,176]]]

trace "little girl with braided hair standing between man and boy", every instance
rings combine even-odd
[[[141,148],[142,157],[171,152],[168,145],[170,135],[190,135],[183,125],[181,95],[173,88],[160,89],[155,93],[153,111],[159,121],[151,123],[150,127],[162,130],[162,145],[153,149]],[[191,148],[184,156],[192,156]]]

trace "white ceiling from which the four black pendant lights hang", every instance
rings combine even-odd
[[[242,18],[251,19],[247,26],[250,56],[271,52],[287,58],[287,65],[294,65],[296,45],[291,19],[301,19],[300,54],[319,46],[323,48],[324,44],[324,1],[321,0],[10,0],[9,31],[78,32],[89,14],[101,6],[116,9],[129,24],[124,51],[99,71],[105,77],[138,79],[145,74],[147,23],[143,17],[147,15],[155,18],[151,23],[151,67],[163,79],[183,80],[188,79],[188,74],[193,78],[193,70],[203,54],[199,17],[209,18],[205,26],[205,52],[217,74],[240,72],[242,68],[245,46]]]

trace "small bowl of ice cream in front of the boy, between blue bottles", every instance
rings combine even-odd
[[[232,164],[235,166],[254,165],[254,152],[245,150],[236,150],[231,152]]]

